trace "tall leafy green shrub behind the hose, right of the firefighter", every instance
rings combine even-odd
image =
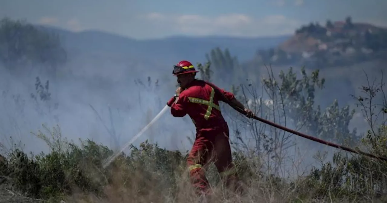
[[[315,105],[317,90],[324,88],[325,79],[319,78],[319,70],[307,75],[305,68],[301,69],[301,78],[297,78],[293,68],[288,73],[279,74],[279,80],[269,77],[263,80],[264,88],[276,95],[281,94],[283,110],[297,129],[303,129],[308,134],[344,143],[345,140],[358,141],[356,129],[349,132],[348,125],[354,110],[349,106],[339,108],[337,100],[325,109]]]

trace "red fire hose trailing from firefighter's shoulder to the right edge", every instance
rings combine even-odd
[[[214,84],[212,83],[209,83],[209,82],[205,82],[207,83],[208,85],[212,86],[212,88],[214,88],[214,91],[216,92],[217,95],[221,96],[223,101],[226,102],[228,105],[230,105],[232,108],[234,108],[236,111],[238,111],[239,113],[247,116],[247,113],[245,112],[244,109],[241,109],[239,107],[237,107],[234,103],[232,103],[230,100],[228,100],[226,98],[226,96],[224,96],[221,91],[217,88],[217,86],[215,86]],[[260,117],[257,117],[257,116],[253,116],[252,117],[253,119],[255,120],[258,120],[262,123],[266,123],[268,125],[271,125],[273,127],[276,127],[278,129],[281,129],[281,130],[284,130],[286,132],[290,132],[291,134],[295,134],[295,135],[298,135],[298,136],[301,136],[303,138],[306,138],[306,139],[309,139],[309,140],[313,140],[315,142],[319,142],[321,144],[325,144],[325,145],[328,145],[330,147],[335,147],[337,149],[342,149],[344,151],[348,151],[348,152],[353,152],[355,154],[361,154],[361,155],[364,155],[364,156],[368,156],[368,157],[372,157],[374,159],[380,159],[380,160],[383,160],[383,161],[387,161],[387,157],[380,157],[380,156],[376,156],[374,154],[370,154],[370,153],[367,153],[367,152],[363,152],[363,151],[358,151],[358,150],[354,150],[354,149],[351,149],[349,147],[345,147],[345,146],[342,146],[342,145],[339,145],[339,144],[335,144],[335,143],[332,143],[332,142],[328,142],[328,141],[325,141],[325,140],[322,140],[322,139],[319,139],[317,137],[312,137],[310,135],[307,135],[307,134],[303,134],[301,132],[298,132],[298,131],[295,131],[295,130],[292,130],[292,129],[289,129],[287,127],[284,127],[282,125],[279,125],[277,123],[274,123],[274,122],[271,122],[269,120],[266,120],[264,118],[260,118]]]

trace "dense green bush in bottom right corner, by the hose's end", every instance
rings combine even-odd
[[[385,127],[382,128],[381,134],[376,135],[377,140],[368,134],[362,141],[371,153],[378,156],[385,156],[387,150],[387,131]],[[340,152],[335,154],[332,163],[327,162],[321,169],[313,169],[308,175],[308,186],[318,188],[315,196],[380,196],[385,190],[386,169],[387,164],[384,161],[361,156],[347,157]]]

